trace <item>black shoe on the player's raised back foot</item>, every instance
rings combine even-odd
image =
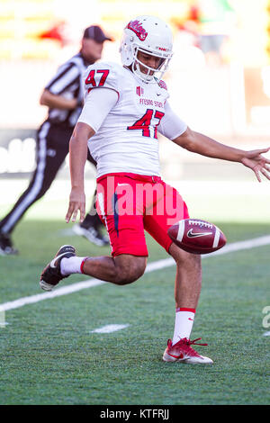
[[[58,250],[56,256],[51,260],[40,275],[40,287],[44,291],[51,291],[62,279],[67,276],[61,274],[61,260],[66,257],[74,257],[75,247],[62,246]]]

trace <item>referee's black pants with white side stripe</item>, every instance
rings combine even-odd
[[[40,126],[37,133],[36,169],[28,188],[14,204],[13,209],[0,221],[0,230],[2,232],[11,233],[19,220],[22,219],[25,211],[31,207],[31,204],[39,200],[49,190],[60,166],[62,166],[67,157],[69,139],[72,132],[73,128],[52,124],[49,121],[44,121]],[[89,151],[87,159],[96,166],[96,162]],[[94,201],[92,209],[94,209]],[[92,210],[91,215],[86,216],[88,226],[90,224],[101,224],[98,215],[93,214]]]

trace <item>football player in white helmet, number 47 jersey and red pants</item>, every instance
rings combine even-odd
[[[193,349],[193,320],[202,284],[201,257],[180,249],[167,235],[176,221],[189,217],[181,195],[160,177],[157,132],[179,147],[203,156],[250,167],[257,179],[270,179],[266,149],[227,147],[191,130],[167,101],[161,77],[172,58],[170,28],[154,16],[139,16],[121,40],[122,66],[100,62],[85,74],[85,106],[70,139],[71,193],[66,221],[85,217],[84,167],[88,148],[97,162],[97,206],[109,234],[112,257],[76,257],[60,247],[40,276],[51,290],[71,274],[83,273],[112,284],[130,284],[144,274],[148,249],[144,230],[175,259],[175,331],[166,362],[211,365]],[[199,344],[205,345],[205,344]]]

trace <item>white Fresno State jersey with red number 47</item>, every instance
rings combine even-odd
[[[94,88],[107,89],[94,92]],[[91,93],[95,94],[93,102]],[[104,107],[100,102],[94,103],[98,93],[103,97]],[[106,93],[112,108],[103,116]],[[186,130],[186,124],[166,103],[168,96],[163,81],[144,83],[130,69],[117,63],[99,62],[88,67],[85,107],[78,121],[95,130],[88,147],[97,162],[97,177],[119,172],[159,175],[157,132],[174,139]],[[170,115],[169,119],[166,114]]]

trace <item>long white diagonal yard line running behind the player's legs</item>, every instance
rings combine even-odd
[[[265,237],[260,237],[260,238],[247,239],[246,241],[239,241],[239,242],[228,244],[225,247],[221,248],[220,250],[216,251],[215,253],[206,254],[202,256],[202,258],[221,256],[223,254],[231,253],[234,251],[240,251],[240,250],[249,249],[253,247],[262,247],[269,244],[270,244],[270,235],[267,235]],[[153,272],[158,269],[163,269],[169,266],[174,266],[174,264],[175,264],[175,261],[171,257],[165,258],[163,260],[157,260],[156,262],[148,263],[148,266],[146,268],[146,273]],[[93,288],[94,286],[98,286],[102,284],[107,284],[107,283],[100,281],[99,279],[88,279],[83,282],[78,282],[76,284],[71,284],[71,285],[63,286],[61,288],[57,288],[56,290],[49,293],[39,293],[37,295],[31,295],[29,297],[19,298],[18,300],[14,300],[12,302],[4,302],[3,304],[0,304],[0,312],[19,309],[20,307],[23,307],[24,305],[27,305],[27,304],[42,302],[50,298],[56,298],[62,295],[67,295],[68,293],[76,293],[78,291],[81,291],[87,288]]]

